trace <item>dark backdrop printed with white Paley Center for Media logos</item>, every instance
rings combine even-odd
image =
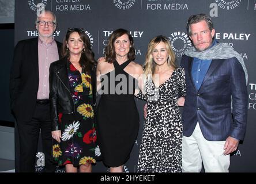
[[[91,40],[96,59],[104,55],[108,37],[115,29],[129,30],[134,38],[135,62],[140,64],[144,64],[149,40],[163,34],[170,40],[179,65],[181,56],[192,45],[186,34],[189,16],[205,13],[212,17],[217,41],[228,43],[238,51],[249,72],[246,137],[231,156],[229,171],[256,171],[256,0],[19,0],[15,1],[15,44],[22,39],[37,36],[36,10],[42,6],[54,11],[57,16],[58,27],[54,34],[56,40],[63,40],[67,28],[84,28]],[[135,172],[137,169],[144,104],[137,100],[140,132],[130,159],[125,164],[125,172]],[[17,139],[16,142],[17,152]],[[35,156],[36,170],[40,172],[44,166],[44,154],[40,147]],[[64,170],[57,168],[57,172]],[[93,166],[93,172],[109,172],[109,169],[102,162],[97,162]]]

